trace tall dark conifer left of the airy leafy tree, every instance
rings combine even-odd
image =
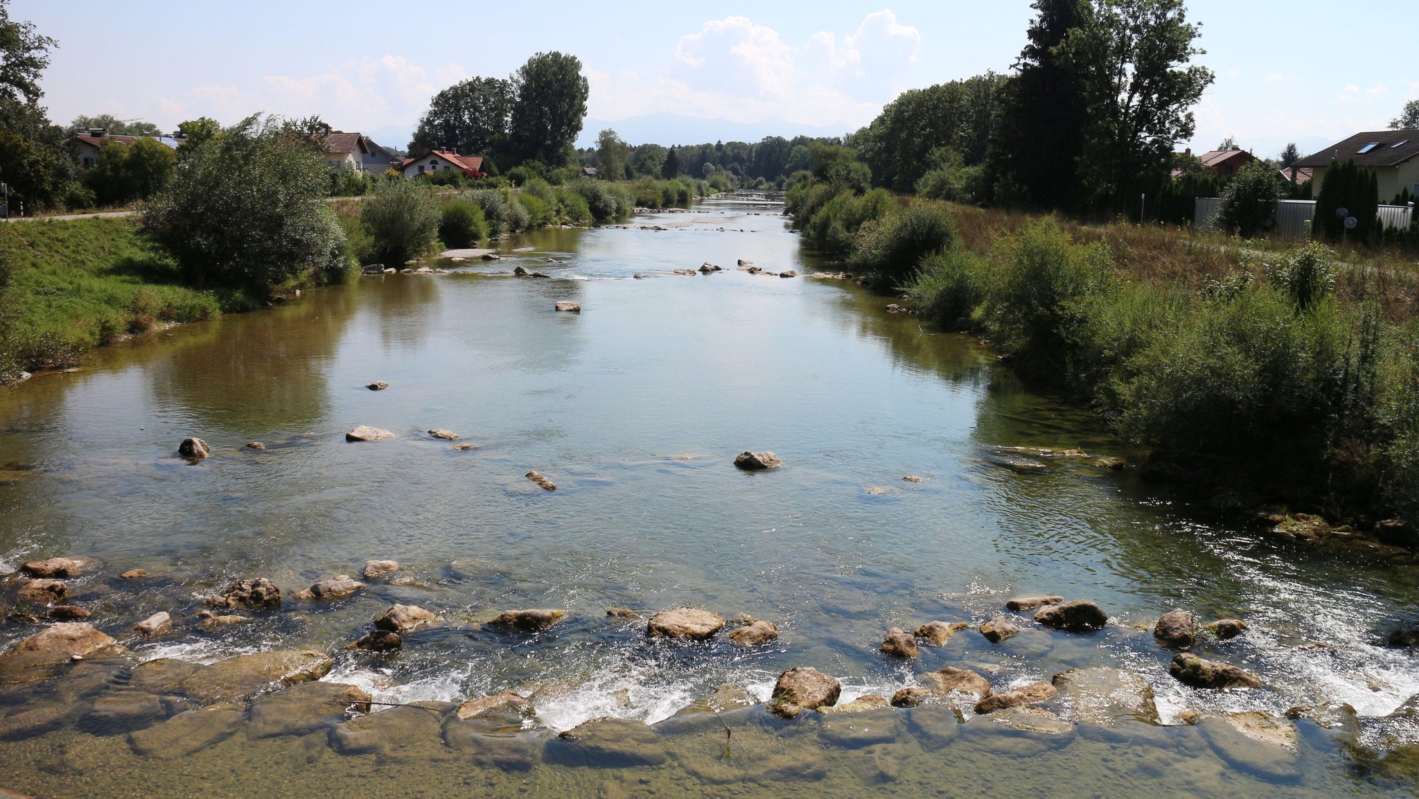
[[[1078,71],[1061,53],[1070,31],[1084,21],[1083,0],[1036,0],[1029,41],[1015,61],[988,169],[993,180],[1016,186],[1023,200],[1067,207],[1078,194],[1088,108]]]

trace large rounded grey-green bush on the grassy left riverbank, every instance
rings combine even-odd
[[[189,281],[265,291],[350,272],[325,203],[329,172],[304,132],[248,116],[204,142],[143,211],[143,228]]]

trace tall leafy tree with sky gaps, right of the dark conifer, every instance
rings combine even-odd
[[[1192,136],[1192,106],[1215,78],[1189,65],[1200,24],[1183,0],[1093,0],[1063,50],[1080,77],[1086,108],[1086,190],[1095,199],[1164,172],[1176,142]]]

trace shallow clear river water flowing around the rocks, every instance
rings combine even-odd
[[[539,231],[508,246],[534,250],[501,261],[363,277],[0,390],[0,575],[11,573],[0,605],[13,609],[24,561],[95,558],[70,596],[133,653],[79,664],[88,676],[0,684],[0,727],[55,697],[74,708],[45,731],[0,739],[0,788],[55,798],[314,796],[336,785],[370,796],[607,798],[1415,790],[1403,744],[1419,741],[1419,721],[1391,714],[1419,694],[1419,670],[1384,646],[1419,616],[1413,566],[1259,538],[1134,470],[1022,451],[1132,454],[1093,414],[1019,385],[981,342],[888,314],[890,298],[849,281],[802,277],[830,265],[779,211],[728,197],[627,226]],[[749,274],[739,258],[800,277]],[[725,271],[668,274],[707,261]],[[502,274],[518,264],[551,280]],[[556,301],[582,312],[555,312]],[[389,389],[366,390],[370,380]],[[348,443],[359,424],[399,437]],[[457,451],[430,429],[475,447]],[[211,457],[179,458],[187,436]],[[244,447],[254,440],[267,448]],[[772,450],[785,465],[739,471],[744,450]],[[524,478],[529,470],[556,491]],[[400,579],[333,602],[291,597],[368,559],[399,561]],[[149,576],[118,578],[133,568]],[[203,595],[251,576],[281,588],[280,612],[217,630],[196,623]],[[1033,593],[1094,600],[1111,622],[1067,633],[1003,610]],[[394,602],[443,622],[396,654],[343,649]],[[779,639],[677,644],[647,640],[644,620],[606,616],[675,606],[766,619]],[[522,607],[568,619],[536,634],[485,626]],[[1266,687],[1175,681],[1174,653],[1151,634],[1174,607],[1244,619],[1242,637],[1203,636],[1195,650]],[[129,632],[158,610],[172,613],[173,634]],[[1002,613],[1022,632],[1000,643],[965,630],[915,661],[878,651],[888,627]],[[0,623],[0,650],[37,630]],[[512,690],[536,717],[499,732],[497,745],[517,751],[505,758],[451,734],[437,704],[376,707],[369,718],[387,714],[386,728],[362,745],[335,732],[336,715],[299,735],[237,725],[196,752],[158,756],[139,754],[131,732],[179,707],[112,725],[85,710],[145,660],[272,649],[328,653],[326,681],[377,701]],[[837,677],[841,702],[891,697],[945,666],[973,668],[998,691],[1108,666],[1149,683],[1156,715],[1100,722],[1067,700],[1047,702],[1057,718],[1033,727],[969,707],[964,724],[946,722],[937,705],[795,721],[762,707],[680,712],[721,684],[766,700],[793,666]],[[1220,721],[1337,702],[1358,725],[1283,718],[1288,748]],[[1189,711],[1202,724],[1183,724]],[[556,737],[600,717],[633,724]]]

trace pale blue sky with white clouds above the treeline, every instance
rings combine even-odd
[[[1310,153],[1419,99],[1413,0],[1191,0],[1188,14],[1216,82],[1179,149],[1232,136]],[[552,50],[590,84],[582,143],[617,122],[631,143],[844,133],[905,89],[1009,71],[1032,16],[1029,0],[10,0],[11,18],[58,40],[41,84],[55,122],[318,114],[394,146],[434,92]]]

